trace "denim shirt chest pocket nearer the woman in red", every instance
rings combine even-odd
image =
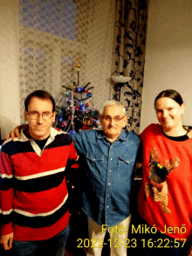
[[[134,172],[134,156],[119,156],[118,160],[118,177],[127,179]]]

